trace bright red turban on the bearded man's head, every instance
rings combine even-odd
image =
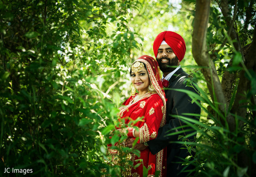
[[[165,41],[172,48],[172,51],[180,61],[184,58],[186,52],[185,41],[179,34],[172,31],[163,31],[162,33],[158,34],[154,40],[153,50],[156,58],[157,50],[162,41]]]

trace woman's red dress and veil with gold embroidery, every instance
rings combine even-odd
[[[144,143],[148,140],[152,140],[157,137],[159,127],[163,126],[166,122],[166,98],[163,90],[162,81],[160,79],[160,69],[157,61],[150,56],[141,56],[136,61],[143,62],[146,65],[148,76],[151,84],[154,86],[156,93],[146,93],[145,98],[134,102],[134,98],[137,96],[131,96],[126,100],[122,107],[119,108],[118,113],[121,119],[125,120],[125,124],[129,124],[131,120],[137,118],[143,118],[142,121],[138,121],[132,126],[137,126],[140,130],[143,129],[143,135],[140,133],[140,139],[138,143]],[[136,62],[135,61],[135,62]],[[135,139],[135,138],[134,138]],[[135,156],[134,166],[137,163],[137,159],[143,160],[143,165],[140,165],[136,169],[132,169],[131,174],[137,173],[140,177],[143,176],[143,166],[151,169],[149,174],[155,174],[156,170],[161,171],[160,177],[165,176],[165,168],[163,164],[166,164],[166,153],[161,151],[157,155],[151,154],[148,148],[140,152],[140,157]]]

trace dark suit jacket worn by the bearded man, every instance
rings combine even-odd
[[[181,166],[179,162],[182,162],[180,158],[184,159],[189,155],[187,149],[180,149],[180,147],[182,147],[180,144],[170,142],[177,141],[179,135],[187,135],[193,131],[195,132],[195,130],[193,130],[192,132],[168,135],[181,130],[175,129],[175,127],[185,125],[181,119],[175,118],[172,115],[181,115],[198,120],[198,117],[183,115],[183,113],[201,113],[201,108],[195,102],[192,103],[191,98],[189,98],[186,93],[172,90],[185,89],[197,93],[193,87],[189,87],[186,84],[188,77],[189,75],[180,68],[174,73],[171,79],[169,79],[169,88],[165,90],[166,98],[168,99],[166,103],[166,125],[158,130],[156,139],[148,141],[148,147],[152,154],[156,154],[167,146],[167,177],[186,177],[187,173],[180,173],[184,166]],[[191,127],[183,129],[191,129]],[[190,137],[190,139],[194,139],[194,136]],[[189,168],[191,169],[193,166],[189,166]]]

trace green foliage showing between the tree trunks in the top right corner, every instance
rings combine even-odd
[[[226,19],[221,14],[219,4],[221,2],[213,2],[211,4],[211,11],[209,16],[209,28],[207,30],[207,42],[209,47],[209,54],[215,66],[217,67],[218,75],[223,76],[224,71],[229,70],[236,72],[241,69],[238,64],[237,53],[234,49],[233,43],[228,35],[230,34],[230,25],[226,23]],[[250,6],[249,6],[250,5]],[[234,1],[228,3],[230,9],[237,10],[236,14],[236,29],[239,34],[239,40],[241,47],[250,44],[253,39],[253,25],[256,22],[255,19],[255,3],[253,1],[244,0],[239,1],[235,7]],[[236,9],[235,9],[236,8]],[[230,12],[231,13],[231,12]],[[248,15],[250,14],[250,17]],[[240,53],[241,55],[241,53]],[[234,57],[236,61],[233,61],[235,66],[227,66],[229,61]]]

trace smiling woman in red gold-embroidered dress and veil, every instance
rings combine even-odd
[[[166,122],[166,98],[157,61],[151,56],[141,56],[131,65],[130,76],[133,84],[132,95],[119,107],[118,116],[119,119],[124,119],[126,126],[131,120],[143,119],[134,124],[130,123],[132,125],[130,127],[117,128],[117,130],[125,132],[128,138],[139,137],[138,143],[147,145],[146,142],[156,138],[159,127]],[[135,93],[135,89],[139,93]],[[113,156],[117,154],[117,150],[111,149],[110,146],[108,152]],[[145,166],[149,169],[148,177],[154,176],[156,171],[160,172],[160,177],[165,177],[165,155],[166,149],[153,155],[148,148],[140,151],[140,157],[132,154],[131,160],[134,166],[141,160],[143,163],[137,168],[132,168],[131,171],[126,171],[125,176],[142,177]]]

